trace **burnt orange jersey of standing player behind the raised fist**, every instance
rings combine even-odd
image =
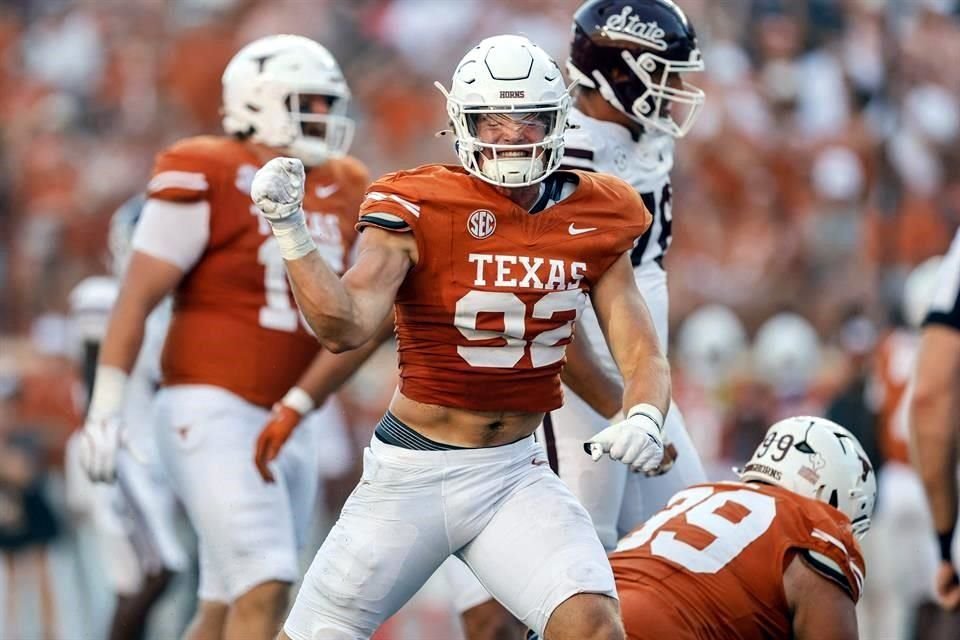
[[[147,195],[206,201],[210,209],[207,247],[174,294],[163,384],[214,385],[267,407],[296,383],[319,345],[301,319],[270,226],[250,201],[260,164],[237,140],[189,138],[157,157]],[[366,183],[366,169],[351,158],[307,172],[307,222],[337,273],[356,238]]]

